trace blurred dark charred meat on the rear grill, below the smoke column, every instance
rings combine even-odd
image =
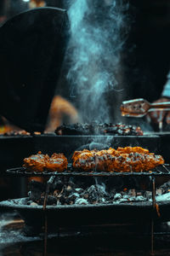
[[[140,136],[143,131],[139,126],[123,124],[73,124],[61,125],[55,130],[57,135],[119,135],[119,136]]]

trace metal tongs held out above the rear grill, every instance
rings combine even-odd
[[[144,99],[134,99],[122,102],[122,116],[143,117],[146,113],[152,111],[170,111],[170,102],[150,103]]]

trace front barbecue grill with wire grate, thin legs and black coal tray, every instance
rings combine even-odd
[[[115,223],[132,223],[139,222],[141,219],[151,223],[151,252],[153,253],[154,241],[154,221],[169,220],[170,201],[161,201],[156,204],[156,182],[155,177],[170,176],[170,166],[162,165],[156,167],[151,172],[72,172],[71,165],[66,172],[27,172],[25,168],[12,168],[7,172],[12,175],[20,176],[42,176],[49,177],[51,175],[44,196],[43,206],[31,207],[27,205],[27,198],[3,201],[0,206],[8,209],[17,209],[22,218],[25,219],[27,225],[32,225],[34,219],[37,218],[37,227],[41,227],[44,223],[45,240],[44,252],[47,250],[48,228],[50,227],[68,227],[89,224],[115,224]],[[131,202],[131,203],[112,203],[88,206],[47,206],[48,192],[55,176],[94,176],[94,177],[150,177],[152,181],[152,201],[151,202]],[[69,218],[67,218],[69,216]],[[72,220],[72,221],[70,221]],[[44,222],[45,221],[45,222]]]

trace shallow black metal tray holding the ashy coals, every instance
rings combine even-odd
[[[25,199],[25,198],[23,198]],[[8,210],[17,210],[20,216],[26,221],[26,224],[32,226],[35,224],[44,224],[43,206],[31,207],[24,204],[14,204],[14,199],[0,202],[0,208]],[[12,201],[12,204],[10,204]],[[150,222],[152,219],[156,222],[167,221],[170,219],[167,212],[170,212],[170,201],[159,202],[161,217],[158,217],[156,210],[153,211],[152,202],[142,203],[114,203],[99,205],[82,206],[47,206],[45,214],[48,219],[48,225],[58,227],[81,226],[89,224],[121,224]],[[69,218],[68,218],[69,217]]]

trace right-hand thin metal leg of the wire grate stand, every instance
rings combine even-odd
[[[156,179],[152,177],[152,217],[151,217],[151,255],[155,255],[154,253],[154,212],[156,209]]]

